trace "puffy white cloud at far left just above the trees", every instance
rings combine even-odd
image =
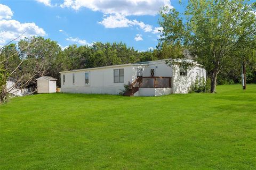
[[[12,16],[12,14],[10,13],[9,15],[6,15],[6,16],[8,16],[7,17],[8,19],[11,19],[10,17]],[[20,40],[25,37],[45,36],[45,35],[46,35],[46,32],[44,31],[44,29],[39,28],[34,22],[21,23],[17,20],[5,20],[5,19],[0,20],[0,45],[1,46],[5,45],[10,40],[15,39],[19,36],[21,37],[17,40]]]

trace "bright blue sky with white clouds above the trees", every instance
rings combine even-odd
[[[183,10],[178,0],[0,0],[0,4],[0,46],[26,31],[25,36],[50,38],[63,48],[122,41],[148,50],[158,43],[159,7]]]

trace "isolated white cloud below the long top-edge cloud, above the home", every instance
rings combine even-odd
[[[129,20],[121,14],[114,14],[109,16],[104,15],[103,20],[99,23],[102,24],[105,28],[124,28],[138,26],[145,32],[151,32],[153,30],[152,25],[145,24],[137,20]]]

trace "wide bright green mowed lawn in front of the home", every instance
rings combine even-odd
[[[0,169],[256,169],[256,84],[217,91],[13,98]]]

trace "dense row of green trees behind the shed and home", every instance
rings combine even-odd
[[[36,87],[35,79],[47,75],[57,78],[60,87],[60,71],[157,59],[153,51],[139,52],[124,43],[95,42],[91,46],[70,45],[62,50],[57,41],[31,37],[2,47],[1,81],[3,85],[11,77],[18,81],[17,85],[23,84],[23,88]]]

